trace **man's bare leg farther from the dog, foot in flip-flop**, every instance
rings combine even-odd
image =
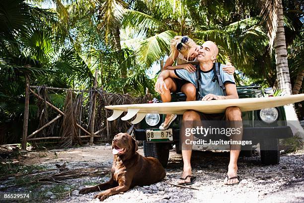
[[[235,125],[241,125],[241,111],[238,107],[228,107],[226,109],[226,119],[230,120],[230,121],[236,121]],[[230,138],[232,140],[242,140],[242,134],[243,134],[243,128],[242,125],[241,126],[231,126],[234,128],[240,127],[241,129],[241,133],[239,135],[233,135]],[[231,145],[230,146],[230,160],[229,160],[229,165],[228,165],[228,177],[236,177],[237,176],[237,159],[238,159],[238,155],[240,152],[240,145]],[[228,180],[225,179],[224,184],[227,185],[231,185],[231,184],[235,184],[238,183],[239,181],[237,180],[237,178]]]

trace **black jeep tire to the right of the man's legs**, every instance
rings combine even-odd
[[[279,139],[260,141],[261,162],[266,165],[277,165],[280,162]],[[271,150],[269,150],[271,149]]]

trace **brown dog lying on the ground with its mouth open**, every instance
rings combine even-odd
[[[83,188],[79,194],[103,191],[94,197],[103,201],[111,195],[125,192],[134,186],[145,186],[159,182],[166,175],[160,162],[152,157],[138,154],[135,139],[127,133],[115,135],[112,142],[114,154],[111,179],[90,188]]]

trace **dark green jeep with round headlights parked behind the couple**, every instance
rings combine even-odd
[[[237,87],[237,93],[239,98],[265,97],[264,95],[272,93],[272,89],[266,88],[263,91],[257,85],[239,86]],[[171,96],[172,102],[186,101],[186,96],[182,93],[172,93]],[[172,149],[173,145],[175,145],[176,153],[181,153],[179,129],[182,115],[178,115],[169,128],[162,131],[161,138],[158,136],[157,139],[153,139],[152,132],[159,131],[158,127],[163,122],[164,117],[165,115],[162,114],[147,114],[146,119],[140,122],[140,127],[134,131],[134,134],[136,140],[144,141],[145,156],[157,158],[165,167],[169,158],[169,150]],[[284,107],[242,112],[242,119],[243,140],[252,140],[252,145],[260,143],[261,162],[266,165],[279,164],[279,139],[293,136],[291,128],[287,126]],[[240,156],[250,157],[252,155],[252,145],[242,146]],[[210,149],[193,147],[193,150]]]

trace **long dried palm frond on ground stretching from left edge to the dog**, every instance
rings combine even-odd
[[[35,172],[33,174],[24,175],[19,179],[31,180],[31,181],[24,181],[21,184],[16,184],[16,185],[1,188],[1,190],[4,191],[8,188],[13,188],[21,185],[28,185],[32,183],[54,183],[54,182],[63,183],[63,181],[67,179],[106,175],[109,171],[110,171],[110,167],[108,166],[88,167],[88,168],[80,168],[80,169],[68,169],[66,167],[58,167],[58,169],[44,170],[44,171]]]

